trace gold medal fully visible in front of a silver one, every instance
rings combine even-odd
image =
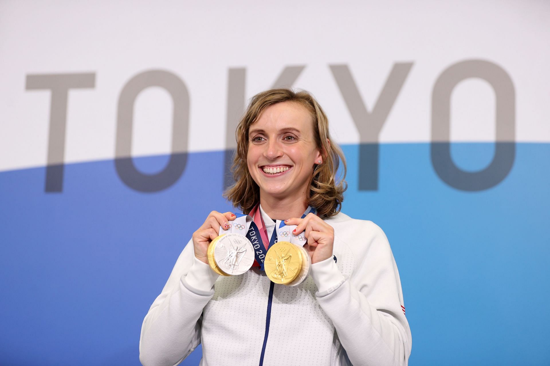
[[[302,254],[298,246],[288,241],[279,241],[267,251],[263,265],[270,280],[288,285],[300,273]]]

